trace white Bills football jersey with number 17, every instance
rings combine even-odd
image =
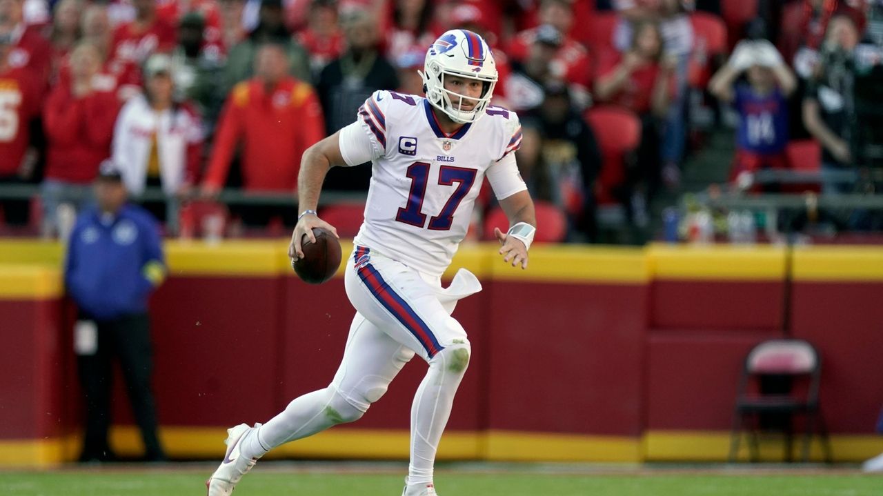
[[[521,144],[518,116],[485,112],[449,135],[425,98],[378,91],[365,101],[340,135],[348,165],[372,162],[356,244],[441,275],[469,229],[484,177],[498,199],[527,189],[513,153]]]

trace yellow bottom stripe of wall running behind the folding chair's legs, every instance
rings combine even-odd
[[[748,459],[747,438],[743,437],[739,460]],[[718,431],[649,431],[644,435],[644,460],[647,462],[724,462],[729,455],[729,432]],[[761,437],[759,455],[764,462],[781,462],[784,444],[781,436]],[[795,436],[793,456],[799,460],[802,437]],[[834,435],[831,447],[836,462],[861,462],[883,452],[880,436]],[[813,438],[812,461],[822,460],[821,445]]]

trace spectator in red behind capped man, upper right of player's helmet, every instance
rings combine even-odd
[[[540,24],[552,25],[562,33],[561,46],[552,59],[552,71],[555,79],[564,79],[569,83],[587,87],[592,80],[592,61],[589,52],[570,36],[573,26],[573,7],[568,0],[543,0],[540,4]],[[509,44],[506,53],[512,61],[524,61],[537,37],[539,27],[518,33]],[[574,90],[571,86],[571,90]]]

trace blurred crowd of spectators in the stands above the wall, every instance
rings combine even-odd
[[[521,116],[538,239],[873,233],[878,1],[0,0],[0,235],[64,237],[109,157],[167,236],[287,233],[306,147],[374,90],[422,95],[456,27]],[[370,172],[328,175],[344,236]]]

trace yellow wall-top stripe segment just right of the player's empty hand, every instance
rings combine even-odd
[[[535,245],[527,269],[512,267],[498,254],[499,244],[487,246],[494,280],[525,282],[647,282],[650,272],[639,248],[600,248],[580,245]]]

